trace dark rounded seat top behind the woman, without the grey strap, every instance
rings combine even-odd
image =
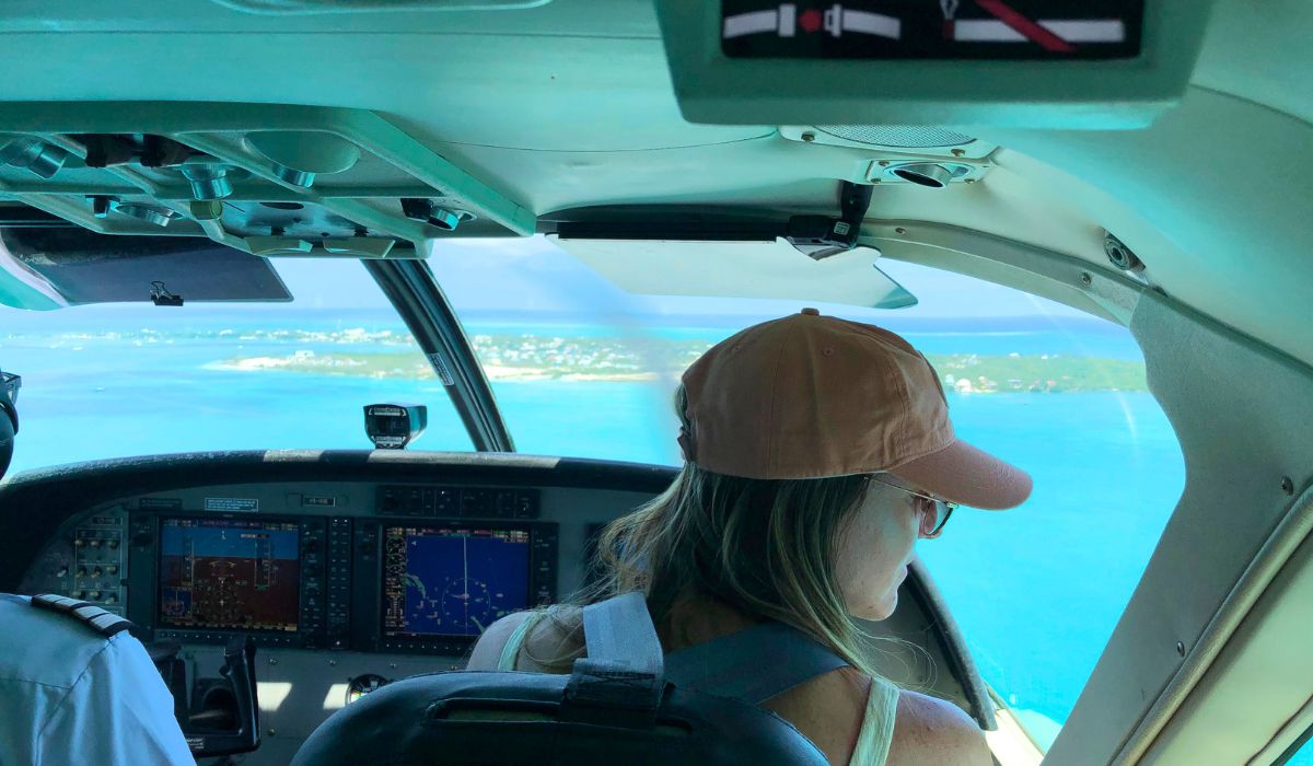
[[[460,671],[418,675],[334,713],[293,766],[825,766],[825,754],[762,708],[664,686],[646,720],[574,704],[571,677]]]

